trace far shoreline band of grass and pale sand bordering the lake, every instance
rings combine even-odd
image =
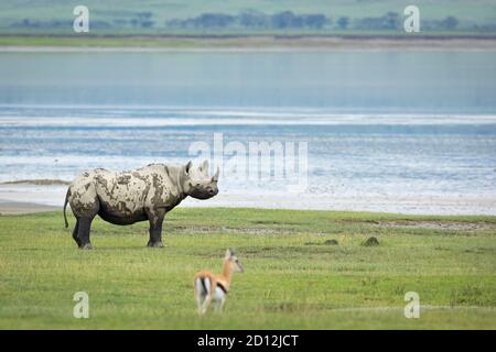
[[[496,37],[428,36],[302,36],[302,37],[123,37],[83,38],[82,42],[53,44],[0,43],[0,52],[29,53],[123,53],[123,52],[333,52],[333,51],[496,51]],[[62,37],[62,40],[67,40]],[[112,40],[116,43],[112,45]]]

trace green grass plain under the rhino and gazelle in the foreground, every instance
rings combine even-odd
[[[144,246],[144,222],[97,219],[95,250],[79,251],[61,212],[0,217],[0,328],[496,328],[495,217],[219,208],[165,221],[165,249]],[[219,271],[226,248],[246,272],[224,315],[198,318],[192,277]],[[73,317],[79,290],[89,319]],[[420,319],[403,316],[407,292]]]

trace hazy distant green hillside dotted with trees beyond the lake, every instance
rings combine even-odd
[[[403,0],[2,0],[0,34],[69,34],[74,7],[90,34],[333,34],[400,32]],[[421,30],[496,33],[494,0],[417,0]]]

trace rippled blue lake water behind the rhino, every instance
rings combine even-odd
[[[185,163],[214,133],[306,143],[308,187],[225,176],[211,205],[496,213],[495,52],[0,53],[0,182]]]

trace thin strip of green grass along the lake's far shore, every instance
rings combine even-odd
[[[311,37],[298,33],[292,36],[291,33],[287,35],[276,35],[276,33],[265,33],[261,35],[245,36],[236,33],[229,33],[226,36],[219,33],[204,33],[203,35],[131,35],[126,36],[71,36],[71,35],[54,35],[54,36],[33,36],[33,35],[0,35],[0,48],[2,46],[29,46],[29,47],[139,47],[139,48],[170,48],[170,50],[183,50],[183,48],[277,48],[277,47],[296,47],[296,48],[335,48],[339,47],[339,44],[328,42],[332,38],[342,38],[346,42],[345,45],[356,45],[356,47],[365,48],[366,44],[362,40],[367,38],[381,38],[390,40],[389,44],[395,46],[401,40],[402,43],[411,43],[410,40],[420,40],[417,45],[425,45],[429,47],[429,43],[422,40],[428,38],[466,38],[473,40],[474,37],[479,40],[495,40],[494,33],[473,33],[473,32],[436,32],[422,34],[421,36],[406,36],[403,34],[397,34],[391,32],[339,32],[334,35],[310,34]],[[326,42],[327,41],[327,42]],[[374,47],[374,43],[370,43]]]

